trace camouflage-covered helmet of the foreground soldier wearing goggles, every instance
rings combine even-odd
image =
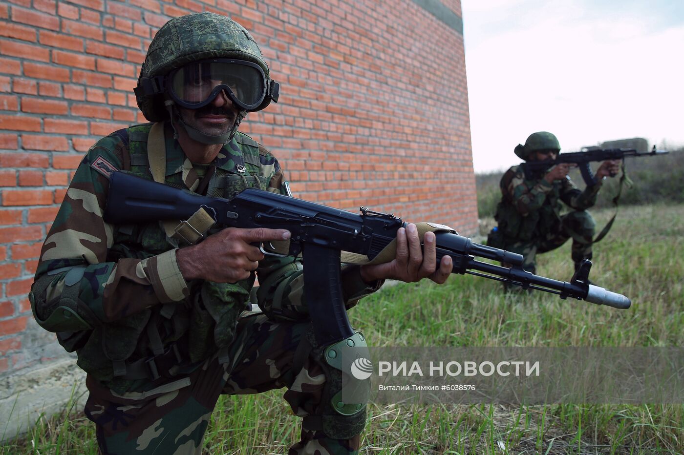
[[[137,105],[145,118],[150,122],[161,122],[168,118],[168,112],[164,107],[163,93],[144,85],[154,77],[164,76],[192,61],[217,58],[251,61],[259,65],[269,79],[268,66],[257,42],[231,18],[202,12],[170,19],[150,42],[134,90]],[[259,109],[266,107],[270,100],[265,98]]]

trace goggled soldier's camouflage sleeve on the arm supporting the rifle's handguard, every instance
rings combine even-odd
[[[276,161],[276,171],[269,180],[269,191],[286,194],[285,176]],[[304,297],[304,266],[301,258],[267,257],[259,263],[259,307],[271,318],[299,320],[306,318],[308,309]],[[370,286],[361,279],[359,267],[343,264],[341,268],[342,295],[347,309],[363,297],[380,289],[384,280]]]

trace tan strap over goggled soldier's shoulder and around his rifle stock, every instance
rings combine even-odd
[[[157,122],[150,129],[147,139],[147,155],[150,171],[155,182],[163,183],[166,178],[166,143],[164,141],[164,124]],[[185,240],[190,245],[205,235],[216,220],[209,212],[200,207],[192,217],[182,221],[161,221],[166,235],[175,240]]]

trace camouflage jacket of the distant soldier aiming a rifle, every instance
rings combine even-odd
[[[527,179],[523,165],[508,169],[500,182],[502,197],[495,219],[508,242],[558,232],[561,202],[575,210],[586,210],[596,204],[601,180],[580,191],[569,176],[553,183],[543,176]]]

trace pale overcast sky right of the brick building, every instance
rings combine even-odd
[[[475,172],[535,131],[562,150],[684,145],[684,0],[462,0]],[[663,143],[664,141],[664,143]]]

